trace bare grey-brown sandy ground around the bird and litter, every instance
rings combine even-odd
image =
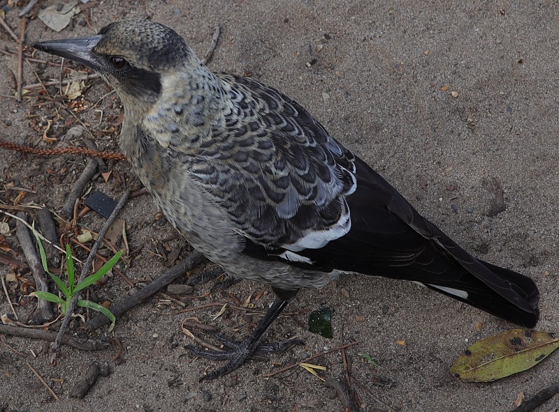
[[[219,24],[222,36],[210,62],[212,70],[250,75],[307,107],[334,137],[467,250],[532,277],[542,295],[538,329],[559,330],[557,1],[140,0],[133,3],[133,10],[129,4],[103,1],[91,8],[93,29],[123,17],[150,17],[172,26],[201,55]],[[61,33],[31,20],[26,40],[87,36],[94,30],[79,24],[85,17],[85,13],[76,16],[74,28]],[[19,33],[17,9],[8,11],[6,21]],[[16,47],[3,30],[0,41],[1,47]],[[311,61],[307,67],[305,63]],[[0,73],[7,68],[15,71],[16,65],[15,58],[0,56]],[[43,79],[58,76],[56,68],[45,73],[34,67]],[[27,64],[24,69],[24,82],[36,82]],[[99,79],[88,86],[85,97],[90,104],[108,92]],[[1,82],[0,93],[13,95],[7,81]],[[48,146],[31,128],[29,115],[52,114],[52,105],[39,108],[35,92],[22,103],[3,98],[0,107],[6,124],[4,138]],[[100,108],[112,119],[120,110],[114,96],[104,99]],[[100,127],[99,113],[80,116],[94,132]],[[59,135],[66,129],[62,121],[53,126]],[[78,138],[48,147],[80,142]],[[116,148],[114,138],[103,137],[98,143],[102,148]],[[14,181],[36,192],[28,193],[23,203],[44,203],[58,211],[86,160],[0,151],[0,178],[4,184]],[[59,173],[62,167],[67,169]],[[138,183],[126,162],[118,162],[115,170],[122,180],[113,176],[104,183],[99,177],[92,187],[118,199],[122,181],[133,187]],[[502,184],[507,209],[489,216],[493,194],[483,182],[493,177]],[[8,202],[17,195],[3,190],[0,194]],[[173,229],[157,220],[156,214],[147,196],[130,201],[122,213],[131,228],[131,249],[144,245],[130,268],[119,265],[136,280],[157,277],[166,270],[154,253],[157,244],[173,236]],[[14,221],[7,221],[13,227]],[[102,220],[88,213],[81,223],[99,230]],[[20,250],[15,236],[6,240]],[[180,240],[168,244],[182,245],[182,254],[187,253]],[[0,275],[9,272],[7,266],[0,266]],[[23,276],[30,277],[29,273]],[[229,292],[245,301],[262,289],[241,282]],[[195,294],[207,290],[197,287]],[[96,289],[101,301],[118,300],[126,293],[126,284],[117,276]],[[187,300],[189,306],[212,302],[232,304],[231,298],[219,293],[206,300]],[[265,296],[256,309],[270,302],[270,295]],[[334,309],[333,339],[300,326],[306,323],[308,311],[321,305]],[[26,309],[21,310],[23,314]],[[502,381],[456,381],[449,366],[467,344],[513,325],[414,284],[350,276],[323,290],[300,293],[288,309],[303,311],[297,316],[299,322],[292,317],[279,319],[267,335],[281,339],[291,333],[305,339],[306,346],[266,363],[249,363],[236,376],[198,383],[198,377],[216,363],[195,360],[183,349],[188,339],[181,332],[182,319],[198,316],[210,322],[219,307],[189,314],[179,310],[156,296],[117,321],[115,335],[124,352],[116,362],[111,360],[116,348],[90,353],[64,347],[57,367],[52,367],[48,345],[2,337],[2,342],[24,357],[0,346],[0,410],[342,411],[335,392],[303,369],[270,379],[260,374],[273,372],[275,364],[288,365],[349,339],[361,340],[347,354],[352,376],[368,388],[355,386],[363,411],[507,411],[518,392],[530,397],[555,383],[559,374],[556,354]],[[3,293],[0,312],[10,312]],[[231,334],[249,320],[242,312],[231,311],[215,322]],[[481,330],[476,329],[477,323],[483,323]],[[235,336],[243,333],[247,329]],[[399,340],[405,345],[398,344]],[[361,363],[358,352],[376,356],[380,365]],[[84,399],[71,399],[68,392],[89,360],[109,363],[112,374],[99,378]],[[50,383],[59,402],[26,362]],[[328,367],[327,377],[342,374],[339,352],[314,363]],[[391,383],[376,386],[379,377]],[[541,410],[555,410],[558,402],[552,400]]]

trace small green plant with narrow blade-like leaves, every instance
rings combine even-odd
[[[68,286],[66,286],[66,284],[64,284],[64,282],[60,279],[60,277],[58,277],[54,273],[49,272],[47,266],[47,256],[45,254],[45,249],[43,248],[43,243],[41,243],[41,239],[38,237],[38,234],[35,229],[33,229],[33,234],[35,235],[35,238],[39,246],[39,252],[41,254],[41,263],[43,264],[43,269],[45,270],[46,273],[50,275],[50,277],[52,277],[52,280],[55,281],[60,291],[64,295],[64,298],[60,298],[54,293],[43,292],[43,291],[34,291],[33,293],[31,293],[31,296],[36,296],[39,299],[44,299],[52,303],[57,303],[58,305],[60,305],[60,311],[62,312],[62,314],[64,314],[64,316],[66,316],[66,312],[68,312],[68,305],[70,304],[70,300],[72,300],[72,297],[75,295],[75,293],[78,293],[82,289],[85,289],[86,287],[94,284],[99,279],[101,279],[101,277],[103,277],[112,268],[112,266],[115,266],[115,264],[117,263],[118,259],[121,257],[123,252],[122,250],[120,250],[117,254],[115,254],[115,256],[113,256],[109,261],[107,261],[106,264],[101,266],[101,268],[97,270],[96,273],[85,277],[85,279],[82,280],[81,282],[78,282],[78,284],[74,284],[75,278],[74,278],[74,264],[72,261],[72,252],[70,250],[70,245],[66,244],[66,270],[68,272]],[[112,314],[110,310],[108,310],[106,307],[94,303],[91,300],[83,300],[83,299],[78,300],[78,306],[89,307],[89,309],[96,310],[97,312],[101,312],[102,314],[107,316],[111,322],[109,327],[109,332],[112,330],[112,328],[115,327],[115,315]]]

